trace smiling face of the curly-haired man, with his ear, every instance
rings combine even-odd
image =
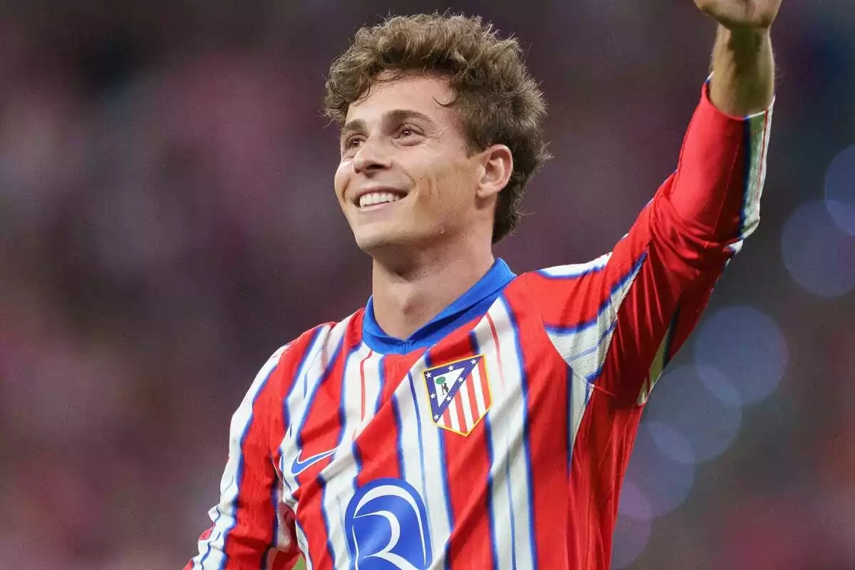
[[[491,182],[489,151],[467,152],[457,115],[440,104],[452,98],[445,80],[406,75],[375,83],[348,109],[335,191],[370,255],[461,236],[489,244],[495,195],[507,180]]]

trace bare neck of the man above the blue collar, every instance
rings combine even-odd
[[[374,260],[372,289],[374,319],[387,335],[409,338],[492,267],[492,250],[432,250],[406,271]]]

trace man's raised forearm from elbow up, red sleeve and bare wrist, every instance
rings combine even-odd
[[[759,221],[775,90],[769,34],[781,0],[694,1],[718,30],[706,101],[689,126],[669,203],[696,238],[741,242]]]

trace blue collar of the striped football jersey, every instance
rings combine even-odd
[[[502,294],[505,285],[514,278],[516,274],[510,271],[508,264],[502,259],[497,259],[490,270],[475,285],[472,285],[469,291],[457,297],[457,301],[433,317],[428,324],[413,332],[410,338],[395,338],[387,335],[374,320],[374,297],[369,297],[363,320],[363,341],[371,350],[380,354],[404,355],[412,350],[433,346],[459,326],[478,315],[485,314],[496,298]]]

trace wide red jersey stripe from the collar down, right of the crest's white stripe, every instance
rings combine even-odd
[[[540,325],[540,315],[525,285],[509,285],[504,292],[508,309],[516,320],[518,331],[530,332],[524,342],[522,358],[523,378],[528,391],[528,450],[529,476],[532,481],[534,514],[532,532],[539,567],[551,567],[561,561],[566,551],[562,527],[553,521],[567,517],[569,488],[567,465],[569,463],[566,422],[569,390],[569,368],[551,344]],[[538,382],[531,382],[538,379]],[[549,379],[549,381],[543,381]],[[560,426],[560,427],[559,427]],[[581,565],[579,567],[587,567]]]

